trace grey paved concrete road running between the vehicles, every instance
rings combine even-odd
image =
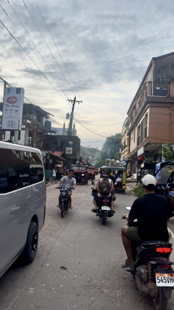
[[[116,214],[103,226],[91,212],[90,184],[77,185],[73,209],[63,219],[54,187],[47,188],[46,223],[35,261],[22,268],[14,264],[0,279],[0,310],[154,309],[121,268],[125,260],[121,217],[124,206],[133,203],[133,194],[117,194]],[[174,296],[168,309],[174,310],[173,305]]]

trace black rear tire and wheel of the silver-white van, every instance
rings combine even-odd
[[[23,264],[28,265],[33,262],[37,252],[37,245],[38,227],[35,222],[30,222],[24,251],[20,255]]]

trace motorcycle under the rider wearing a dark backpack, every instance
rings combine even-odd
[[[91,182],[94,185],[94,181]],[[97,193],[97,190],[94,187],[91,187],[91,195],[94,197]],[[112,217],[114,214],[111,212],[110,201],[108,196],[102,196],[98,202],[98,208],[96,216],[99,216],[99,219],[102,219],[102,224],[106,225],[107,218]]]

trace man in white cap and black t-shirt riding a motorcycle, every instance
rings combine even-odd
[[[167,242],[169,239],[167,221],[173,217],[170,203],[166,197],[154,193],[156,179],[153,175],[145,175],[141,181],[145,195],[133,202],[129,215],[123,215],[128,222],[137,219],[138,227],[122,227],[122,241],[128,257],[122,268],[131,267],[134,264],[131,239],[139,243],[148,240]]]

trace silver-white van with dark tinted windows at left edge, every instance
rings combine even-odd
[[[0,141],[0,277],[20,255],[33,261],[45,213],[41,151]]]

